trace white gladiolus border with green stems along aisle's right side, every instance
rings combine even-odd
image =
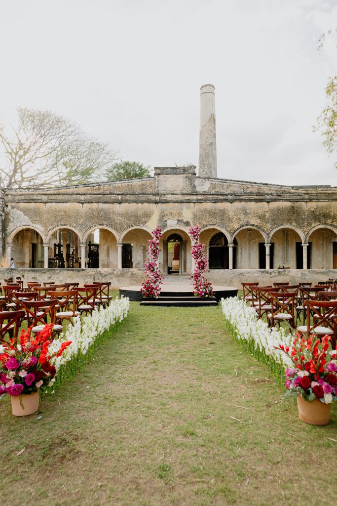
[[[226,328],[233,337],[255,358],[265,362],[279,383],[283,382],[285,369],[292,367],[293,363],[274,346],[282,344],[291,348],[292,334],[286,333],[283,328],[269,328],[265,321],[258,318],[254,308],[237,297],[221,299],[221,306]]]

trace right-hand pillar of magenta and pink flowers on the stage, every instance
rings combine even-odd
[[[213,286],[212,283],[207,281],[203,273],[207,269],[207,261],[205,256],[205,246],[200,244],[200,228],[190,227],[188,230],[189,237],[191,238],[191,255],[195,261],[195,268],[192,270],[190,280],[193,285],[193,292],[195,297],[212,297]]]

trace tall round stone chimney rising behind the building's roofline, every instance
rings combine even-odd
[[[217,178],[213,85],[204,85],[200,88],[199,177]]]

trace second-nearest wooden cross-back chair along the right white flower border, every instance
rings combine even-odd
[[[274,327],[281,322],[287,322],[295,328],[295,301],[297,291],[270,291],[271,312],[267,314],[268,324]]]

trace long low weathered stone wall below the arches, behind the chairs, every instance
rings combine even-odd
[[[140,285],[144,273],[141,269],[0,269],[0,281],[5,278],[21,276],[24,281],[65,281],[80,284],[92,281],[111,281],[112,288],[121,286]],[[300,281],[326,281],[328,278],[337,279],[337,270],[325,269],[214,269],[207,273],[212,283],[223,286],[241,287],[242,282],[259,282],[272,284],[275,281],[289,281],[296,284]],[[183,278],[187,281],[186,276]]]

